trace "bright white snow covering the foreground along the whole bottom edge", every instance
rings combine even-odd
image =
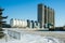
[[[5,31],[6,33],[6,31]],[[22,39],[14,39],[10,37],[8,33],[3,39],[0,39],[0,43],[65,43],[61,39],[56,39],[53,37],[41,37],[37,34],[22,34]]]

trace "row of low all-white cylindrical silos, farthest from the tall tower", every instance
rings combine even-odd
[[[27,22],[22,20],[22,19],[13,19],[12,18],[10,20],[10,25],[11,25],[11,27],[25,28],[25,27],[27,27]]]

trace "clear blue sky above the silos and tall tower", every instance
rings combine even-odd
[[[55,26],[65,25],[65,0],[0,0],[3,16],[11,18],[37,20],[37,4],[43,3],[55,11]]]

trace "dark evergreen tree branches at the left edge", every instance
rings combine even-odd
[[[0,8],[0,39],[2,39],[2,38],[4,37],[3,29],[2,29],[2,25],[4,25],[5,22],[3,22],[3,19],[4,19],[4,18],[8,18],[8,16],[5,16],[5,17],[2,16],[2,11],[3,11],[3,10],[4,10],[4,9],[1,9],[1,8]]]

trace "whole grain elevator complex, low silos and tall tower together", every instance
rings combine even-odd
[[[38,19],[37,20],[23,20],[14,19],[10,20],[10,26],[13,28],[28,28],[28,29],[54,29],[54,10],[40,3],[38,4]]]

